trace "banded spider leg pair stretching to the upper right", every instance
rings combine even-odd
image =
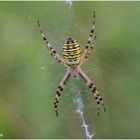
[[[96,40],[96,36],[94,35],[94,32],[95,32],[95,11],[93,14],[94,14],[93,15],[94,20],[93,20],[92,28],[91,28],[91,31],[89,34],[88,42],[85,46],[85,50],[84,50],[84,52],[81,56],[81,59],[80,59],[80,65],[82,65],[85,62],[85,60],[88,58],[88,56],[90,55],[90,53],[93,49],[93,46],[94,46],[94,42]]]

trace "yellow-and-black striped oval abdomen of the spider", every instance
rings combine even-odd
[[[70,66],[78,65],[81,57],[80,45],[71,37],[67,39],[63,46],[63,57]]]

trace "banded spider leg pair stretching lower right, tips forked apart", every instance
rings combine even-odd
[[[94,83],[90,80],[90,78],[81,69],[79,69],[79,75],[84,79],[86,85],[91,89],[91,91],[94,95],[94,98],[96,100],[96,103],[97,103],[97,109],[98,109],[98,115],[99,115],[100,104],[102,104],[104,111],[106,110],[103,99],[102,99],[101,95],[99,94],[99,92],[97,91]]]

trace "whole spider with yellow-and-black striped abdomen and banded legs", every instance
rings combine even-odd
[[[54,98],[54,108],[55,108],[56,116],[58,116],[57,106],[58,106],[58,102],[59,102],[61,93],[64,89],[64,86],[66,85],[66,83],[70,77],[78,78],[78,76],[81,76],[82,79],[84,80],[84,82],[86,83],[86,85],[91,89],[91,91],[94,95],[94,98],[96,100],[96,103],[97,103],[98,115],[99,115],[100,104],[102,104],[103,109],[105,111],[103,99],[102,99],[101,95],[99,94],[99,92],[97,91],[95,84],[82,71],[82,69],[80,67],[85,62],[85,60],[88,58],[88,56],[90,55],[91,50],[93,49],[93,46],[95,44],[95,40],[96,40],[96,36],[94,34],[94,32],[95,32],[95,11],[94,11],[93,17],[94,17],[94,20],[93,20],[92,28],[91,28],[91,31],[90,31],[90,34],[88,37],[88,41],[85,46],[85,50],[84,50],[83,54],[81,54],[80,45],[77,43],[77,41],[73,37],[69,37],[63,46],[62,53],[63,53],[64,59],[51,46],[47,37],[43,33],[39,20],[37,21],[38,27],[40,29],[40,33],[42,35],[43,40],[45,41],[46,47],[49,50],[51,56],[53,56],[54,59],[58,63],[63,64],[64,66],[67,67],[67,72],[65,73],[62,81],[60,82],[60,84],[56,90],[56,95]]]

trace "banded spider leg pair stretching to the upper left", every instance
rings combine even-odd
[[[41,36],[42,36],[43,40],[45,41],[46,47],[47,47],[47,49],[49,50],[50,54],[54,57],[54,59],[55,59],[58,63],[63,64],[64,66],[67,67],[67,64],[65,63],[65,61],[63,60],[63,58],[52,48],[52,46],[51,46],[51,44],[49,43],[47,37],[44,35],[39,20],[37,21],[37,23],[38,23],[38,27],[39,27],[39,29],[40,29]]]

